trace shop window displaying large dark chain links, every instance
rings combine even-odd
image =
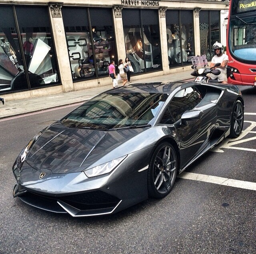
[[[111,60],[118,62],[112,10],[63,7],[62,18],[73,80],[108,76]]]

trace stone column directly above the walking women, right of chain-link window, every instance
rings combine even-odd
[[[115,30],[115,37],[116,37],[116,48],[118,52],[116,64],[118,64],[119,59],[125,60],[126,58],[122,9],[123,9],[122,6],[113,6],[114,30]]]

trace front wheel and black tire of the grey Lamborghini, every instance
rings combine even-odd
[[[148,168],[148,195],[163,198],[168,195],[177,175],[177,153],[167,142],[158,145]]]

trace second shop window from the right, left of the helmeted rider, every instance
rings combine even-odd
[[[192,10],[166,10],[169,67],[191,64],[194,56]]]

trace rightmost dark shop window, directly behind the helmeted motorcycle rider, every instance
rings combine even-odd
[[[220,42],[220,12],[201,10],[199,22],[200,52],[211,61],[214,56],[212,45],[216,41]]]

